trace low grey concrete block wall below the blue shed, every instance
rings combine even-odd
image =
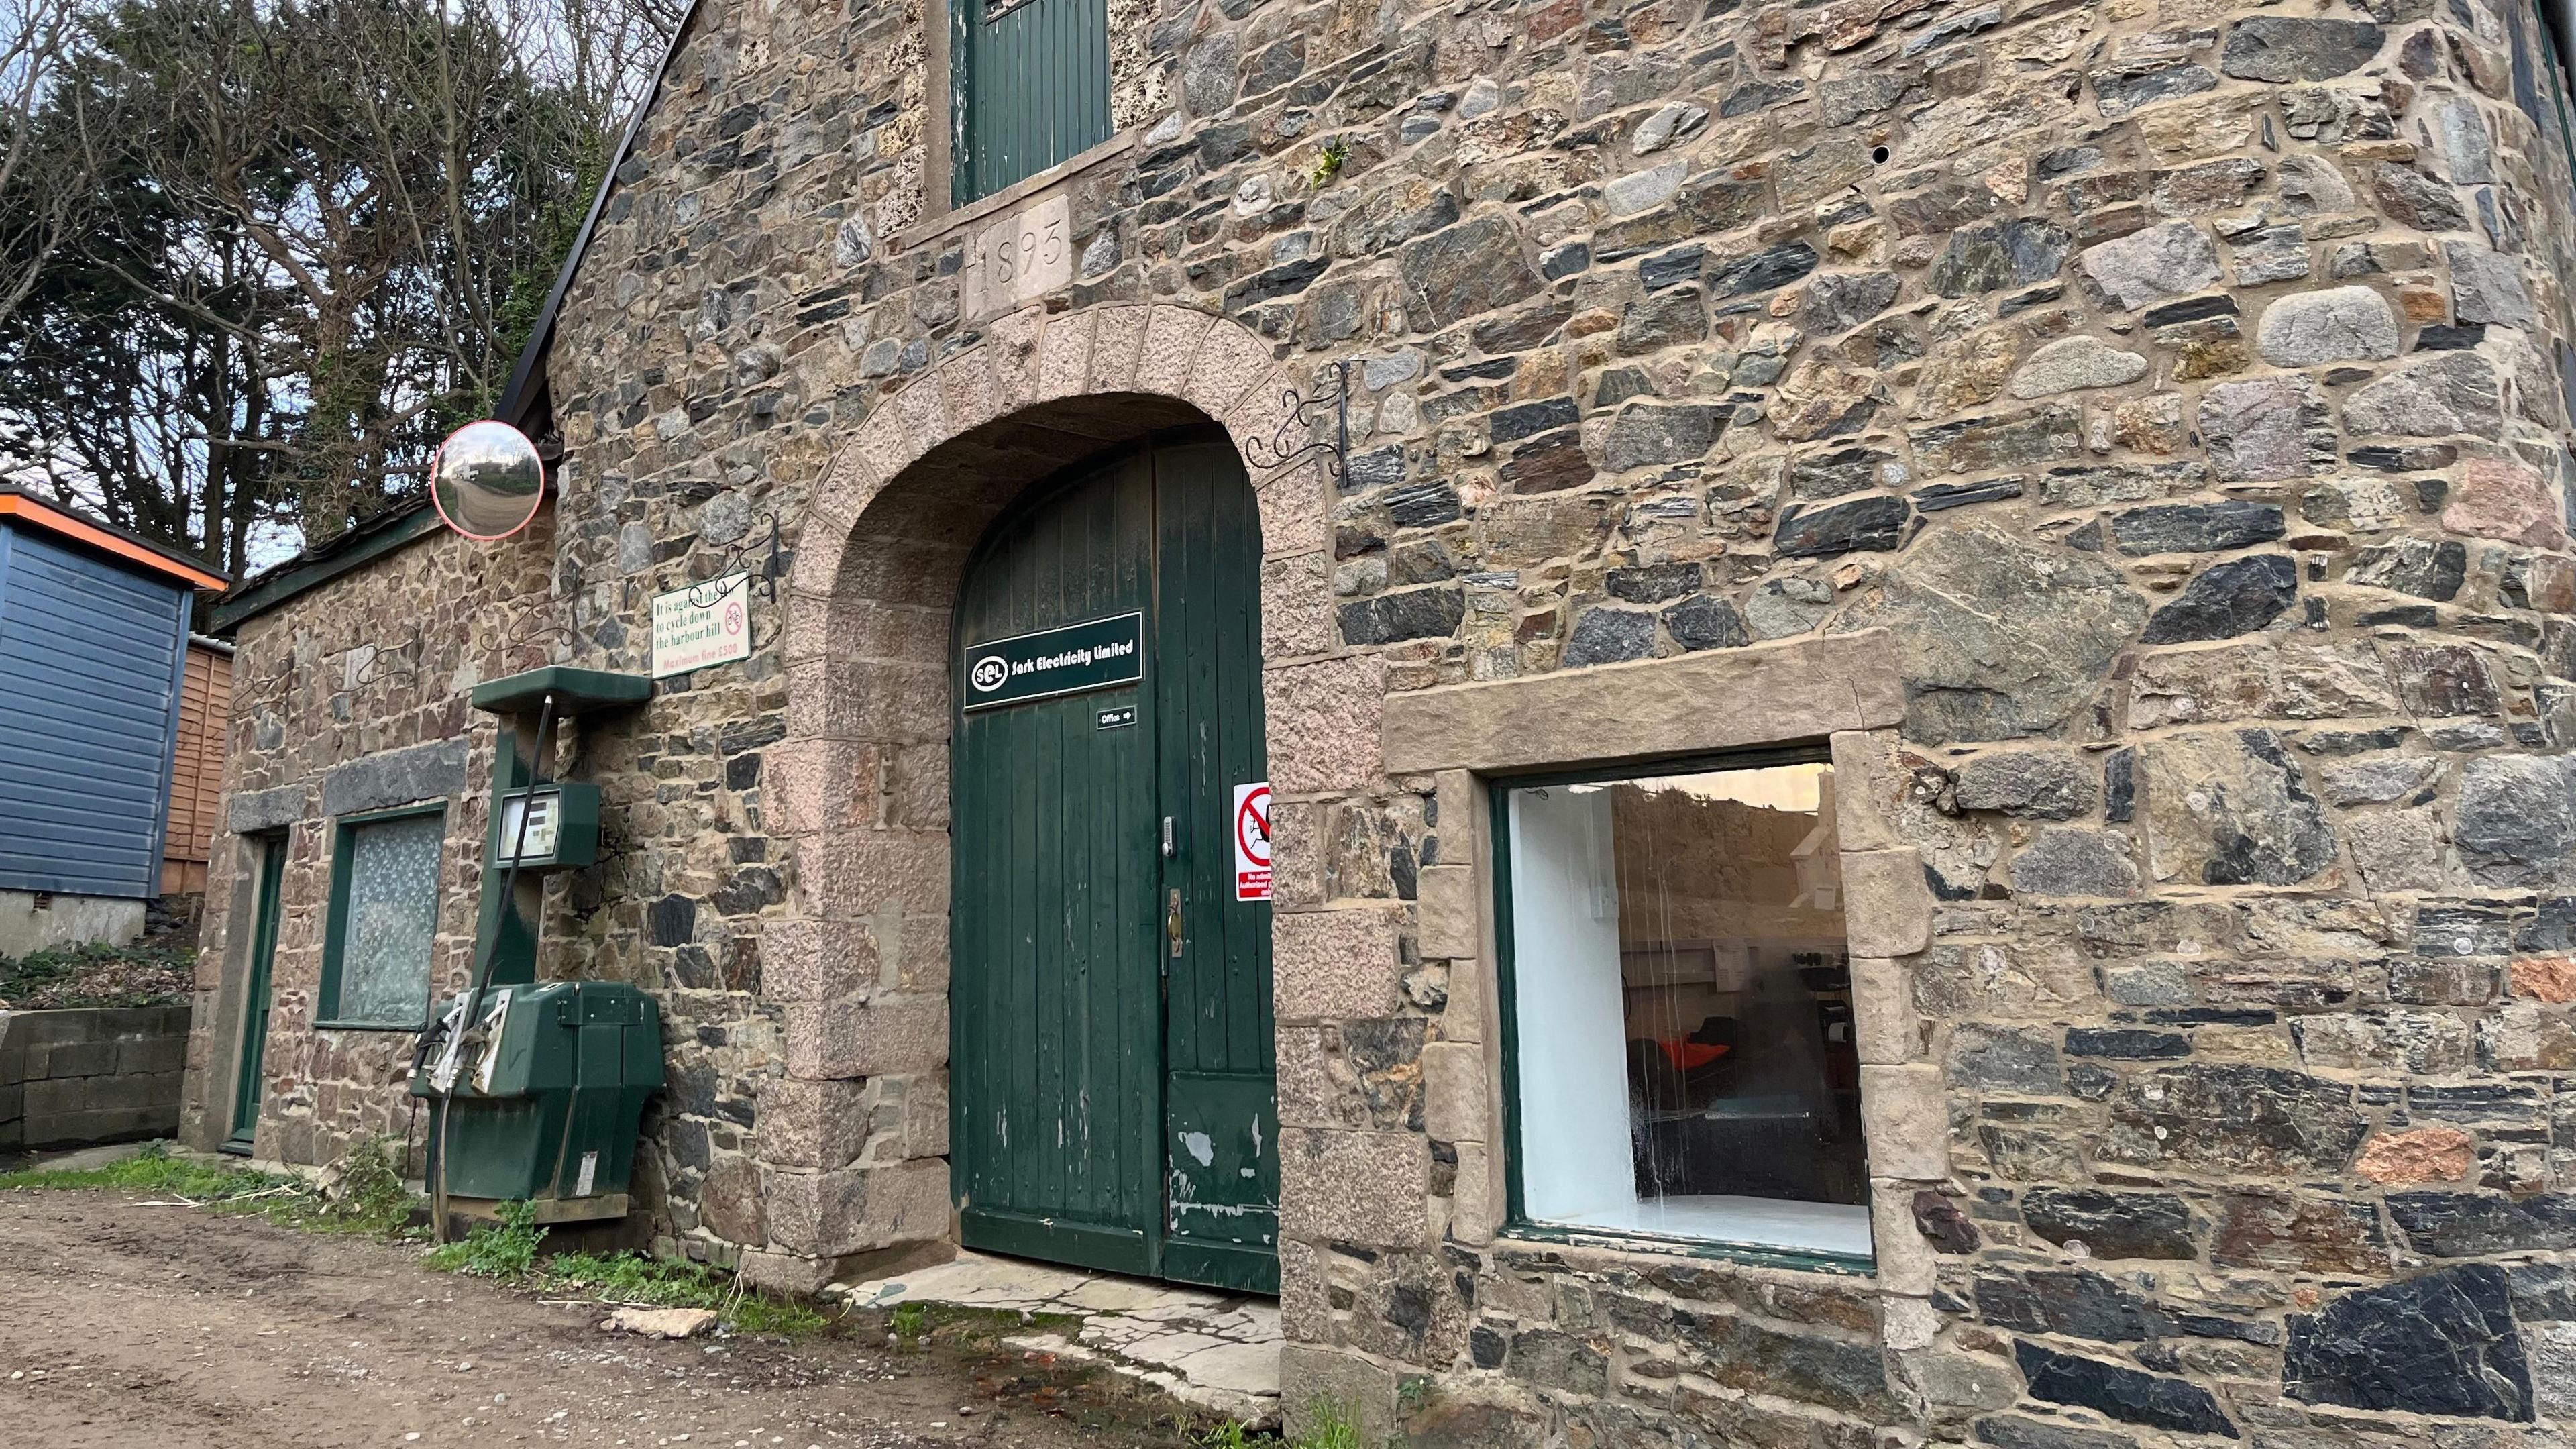
[[[0,1013],[0,1152],[178,1132],[185,1006]]]

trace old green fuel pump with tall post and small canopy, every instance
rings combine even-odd
[[[428,1098],[435,1232],[528,1201],[538,1222],[626,1217],[644,1101],[662,1088],[662,1013],[626,982],[538,982],[546,874],[598,861],[600,789],[544,776],[562,719],[634,709],[652,681],[538,668],[474,688],[502,717],[471,985],[412,1055]]]

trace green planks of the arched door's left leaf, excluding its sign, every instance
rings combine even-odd
[[[1151,567],[1149,459],[1084,469],[984,541],[958,645],[1144,611]],[[1149,732],[1097,714],[1136,704],[1118,686],[956,719],[951,936],[966,1245],[1131,1274],[1159,1196],[1154,792]]]

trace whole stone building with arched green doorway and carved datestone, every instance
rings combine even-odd
[[[1275,1261],[1417,1446],[2566,1444],[2540,13],[1087,3],[698,5],[538,526],[234,590],[191,1140],[417,1142],[335,861],[453,990],[466,691],[775,521],[556,758],[665,1250]]]

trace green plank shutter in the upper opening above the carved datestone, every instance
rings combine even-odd
[[[1108,0],[958,0],[953,204],[1110,139]]]

